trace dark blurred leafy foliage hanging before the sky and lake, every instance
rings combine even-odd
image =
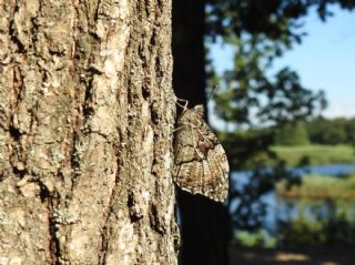
[[[223,144],[227,150],[231,166],[245,169],[253,164],[255,172],[244,186],[233,187],[231,200],[237,198],[233,221],[239,228],[256,228],[265,208],[260,202],[263,194],[272,191],[278,180],[294,181],[296,176],[285,169],[282,159],[271,151],[274,140],[280,137],[284,124],[317,115],[326,108],[325,94],[311,92],[300,82],[296,72],[284,68],[271,77],[274,60],[302,42],[302,18],[311,8],[316,8],[322,20],[331,12],[328,6],[341,4],[353,9],[355,1],[336,0],[239,0],[206,1],[206,37],[212,43],[222,40],[233,45],[234,68],[217,75],[209,65],[210,84],[219,82],[221,90],[215,99],[216,113],[235,128],[248,126],[246,133],[223,132]],[[211,86],[211,85],[210,85]],[[256,125],[274,126],[280,130],[253,131]],[[298,142],[306,143],[307,136],[298,128]],[[290,131],[290,130],[288,130]],[[301,132],[302,131],[302,132]],[[292,135],[288,135],[291,137]],[[286,141],[286,135],[283,136]],[[288,140],[287,140],[288,141]],[[272,172],[263,171],[265,161],[275,160]],[[248,193],[248,194],[246,194]],[[232,202],[233,204],[233,202]],[[251,225],[251,220],[254,218]]]

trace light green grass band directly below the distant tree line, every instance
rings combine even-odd
[[[272,151],[292,166],[298,165],[303,157],[311,165],[355,163],[355,150],[351,145],[273,146]]]

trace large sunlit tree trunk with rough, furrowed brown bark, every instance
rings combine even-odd
[[[0,1],[0,264],[176,264],[169,0]]]

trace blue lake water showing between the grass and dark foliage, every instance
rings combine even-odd
[[[301,175],[304,174],[322,174],[331,176],[343,176],[349,173],[355,173],[355,164],[334,164],[334,165],[315,165],[303,169],[294,169]],[[234,172],[232,181],[235,185],[243,186],[247,183],[250,172]],[[287,222],[296,218],[300,214],[306,215],[310,220],[320,217],[331,217],[338,212],[346,212],[349,220],[355,221],[355,202],[312,202],[312,201],[286,201],[275,192],[271,192],[262,197],[266,204],[266,218],[264,221],[264,228],[271,234],[277,233],[277,223],[280,221]],[[237,202],[236,202],[237,203]],[[233,204],[232,204],[233,207]]]

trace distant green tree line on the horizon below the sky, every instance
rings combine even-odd
[[[355,145],[355,118],[297,121],[275,128],[276,145],[351,144]]]

